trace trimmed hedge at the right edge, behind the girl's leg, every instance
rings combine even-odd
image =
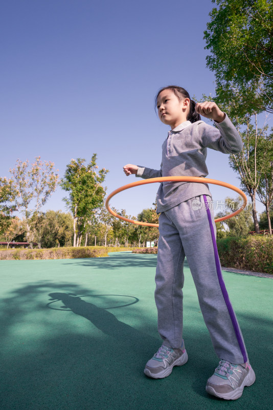
[[[249,235],[217,240],[221,264],[229,268],[273,274],[273,237]]]

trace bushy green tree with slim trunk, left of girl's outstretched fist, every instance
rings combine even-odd
[[[105,197],[102,182],[109,171],[105,168],[97,171],[98,168],[97,154],[93,154],[87,165],[83,158],[71,159],[61,180],[62,189],[69,192],[69,197],[63,198],[63,201],[74,218],[74,247],[80,245],[87,221]]]

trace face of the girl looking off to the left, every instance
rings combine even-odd
[[[172,90],[163,90],[157,97],[158,117],[172,130],[182,122],[187,121],[189,109],[190,99],[179,100]]]

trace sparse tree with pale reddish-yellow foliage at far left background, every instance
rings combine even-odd
[[[57,188],[59,175],[54,172],[54,162],[42,161],[36,157],[31,166],[29,161],[17,159],[16,167],[10,169],[13,175],[12,185],[17,192],[15,206],[21,209],[26,220],[26,237],[32,248],[34,233],[31,232],[35,217]],[[58,171],[58,170],[57,170]],[[33,208],[30,207],[33,204]]]

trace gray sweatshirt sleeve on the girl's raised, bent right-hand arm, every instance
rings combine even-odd
[[[212,127],[202,121],[201,145],[204,148],[223,152],[224,154],[236,154],[242,151],[243,142],[240,134],[232,124],[230,118],[225,114],[225,119],[219,124],[215,122],[217,128]]]

